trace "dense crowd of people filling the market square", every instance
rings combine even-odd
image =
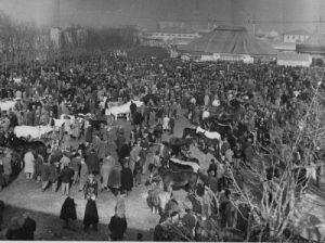
[[[15,76],[23,78],[17,80]],[[99,193],[107,190],[117,196],[128,196],[132,188],[143,184],[144,175],[155,171],[170,155],[161,143],[161,133],[174,133],[183,110],[193,125],[207,130],[211,128],[207,120],[213,114],[233,115],[227,124],[232,132],[222,136],[216,159],[207,170],[209,177],[218,180],[221,191],[226,189],[226,167],[233,166],[239,172],[242,162],[251,164],[258,143],[266,146],[276,138],[278,144],[289,145],[315,84],[317,80],[308,69],[266,64],[205,65],[120,55],[62,60],[53,65],[38,65],[32,73],[26,68],[21,74],[1,76],[1,99],[15,99],[16,104],[1,111],[0,145],[6,146],[15,126],[54,127],[54,119],[61,115],[88,113],[104,120],[95,128],[86,119],[66,119],[48,138],[46,157],[30,150],[23,155],[22,163],[27,180],[41,182],[43,192],[50,186],[53,192],[61,187],[67,200],[73,200],[72,187],[83,192],[84,230],[90,225],[96,230]],[[146,95],[151,99],[144,105],[130,106],[133,125],[130,138],[123,127],[108,132],[112,117],[105,111],[110,102],[126,103]],[[234,101],[239,105],[233,105]],[[142,116],[140,124],[135,122],[136,114]],[[272,133],[274,128],[277,133]],[[303,148],[309,142],[299,144],[297,165],[307,156]],[[0,161],[1,190],[11,182],[12,149],[13,152],[5,150]],[[278,156],[274,159],[275,164],[281,163]],[[317,168],[321,175],[322,166]],[[118,204],[121,202],[122,199],[118,200]],[[73,201],[66,201],[64,207],[72,205]],[[74,209],[67,212],[61,215],[65,227],[69,219],[76,219]],[[112,238],[122,240],[126,228],[125,212],[116,209],[109,223]]]

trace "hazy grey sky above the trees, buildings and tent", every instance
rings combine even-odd
[[[60,22],[57,4],[60,1]],[[155,29],[159,21],[193,22],[199,5],[199,21],[205,27],[208,18],[219,25],[245,25],[256,22],[262,30],[325,31],[325,0],[0,0],[0,10],[18,21],[35,22],[38,26],[66,27],[138,25]]]

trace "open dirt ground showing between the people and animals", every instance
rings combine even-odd
[[[116,125],[121,125],[127,131],[127,138],[131,126],[129,123],[120,119]],[[172,137],[181,137],[184,127],[192,127],[184,117],[176,123],[174,135]],[[115,130],[110,132],[110,145],[109,150],[115,152]],[[162,141],[168,140],[169,135],[164,135]],[[77,142],[72,142],[73,145]],[[191,148],[192,156],[197,157],[200,162],[202,170],[208,168],[209,162],[212,158],[210,154],[202,153],[197,148]],[[115,155],[116,156],[116,155]],[[146,176],[143,177],[143,181]],[[314,186],[311,187],[309,193],[312,193],[312,199],[317,201],[317,206],[311,206],[310,212],[313,212],[322,221],[325,222],[325,184],[322,183],[322,188],[317,189]],[[153,229],[157,225],[159,217],[153,215],[148,208],[143,194],[146,192],[145,186],[134,188],[128,197],[126,197],[127,207],[127,221],[128,230],[125,240],[134,241],[136,234],[142,233],[144,241],[152,241]],[[176,196],[182,196],[184,192],[179,191]],[[35,233],[36,240],[73,240],[73,241],[105,241],[107,240],[107,225],[110,217],[114,215],[114,207],[116,204],[116,197],[112,192],[102,192],[99,194],[96,201],[100,225],[99,231],[89,230],[87,233],[82,231],[82,219],[86,207],[86,200],[83,193],[77,191],[77,187],[73,186],[72,196],[77,204],[77,220],[73,223],[72,230],[63,229],[63,222],[58,218],[60,210],[65,197],[61,196],[61,191],[53,193],[51,189],[46,192],[41,192],[40,183],[35,181],[27,181],[25,175],[21,174],[20,177],[13,181],[8,188],[0,193],[0,199],[5,203],[6,207],[3,215],[3,229],[0,232],[0,239],[4,239],[5,228],[10,225],[10,219],[13,217],[20,217],[24,213],[30,215],[37,221],[37,230]],[[310,202],[306,202],[306,205],[311,205]],[[314,204],[313,204],[314,205]],[[306,207],[307,208],[307,207]]]

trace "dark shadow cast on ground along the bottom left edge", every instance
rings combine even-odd
[[[108,226],[100,223],[99,231],[95,232],[92,228],[88,232],[83,232],[82,220],[72,222],[72,229],[63,229],[63,220],[58,216],[34,212],[25,208],[18,208],[12,205],[5,205],[3,213],[2,231],[0,240],[5,240],[5,232],[10,226],[11,218],[21,217],[23,214],[28,214],[29,217],[37,221],[35,240],[52,240],[52,241],[107,241]],[[143,234],[143,240],[152,241],[150,231],[128,229],[125,234],[126,241],[136,241],[138,233]]]

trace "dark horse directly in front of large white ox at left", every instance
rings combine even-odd
[[[8,145],[12,150],[14,150],[16,153],[20,154],[20,157],[23,159],[25,153],[28,150],[32,150],[39,155],[43,157],[43,159],[47,159],[47,144],[40,140],[36,141],[28,141],[27,139],[24,138],[17,138],[15,135],[11,135],[8,138]]]

